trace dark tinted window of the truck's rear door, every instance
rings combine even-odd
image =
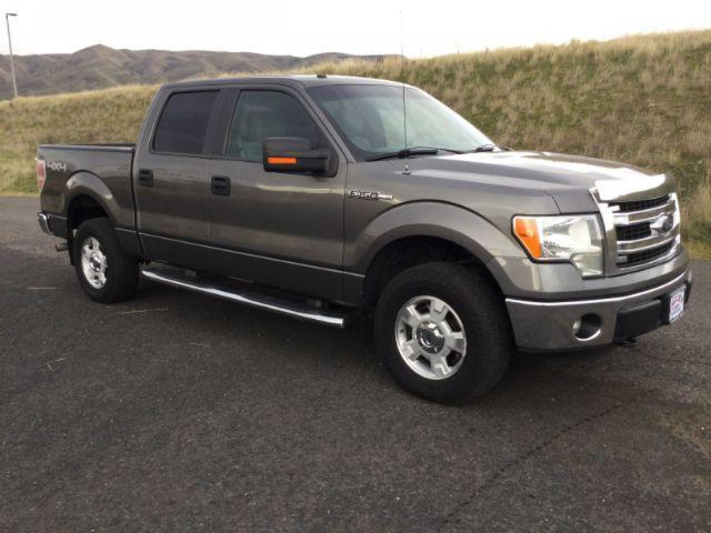
[[[176,92],[156,126],[153,149],[173,154],[202,154],[210,113],[218,91]]]

